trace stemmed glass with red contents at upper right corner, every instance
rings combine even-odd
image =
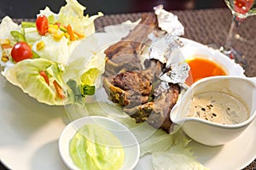
[[[247,66],[247,60],[244,54],[237,52],[232,48],[232,39],[236,34],[236,29],[241,25],[241,22],[248,16],[256,14],[255,0],[224,0],[230,8],[233,20],[230,26],[230,31],[224,46],[220,48],[221,52],[234,59],[236,63],[240,64],[244,69]]]

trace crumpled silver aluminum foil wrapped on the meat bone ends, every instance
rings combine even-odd
[[[160,75],[161,81],[179,83],[186,88],[184,82],[189,77],[189,65],[185,62],[174,62],[176,59],[172,59],[172,52],[183,47],[183,42],[179,40],[179,36],[184,34],[184,27],[177,20],[177,15],[163,9],[162,5],[154,7],[154,12],[157,15],[159,27],[166,33],[160,37],[156,37],[153,33],[148,35],[152,40],[149,58],[158,59],[166,64],[165,72]],[[185,59],[183,56],[179,57]]]

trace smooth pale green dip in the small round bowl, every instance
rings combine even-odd
[[[120,169],[125,151],[119,139],[96,124],[81,127],[69,145],[70,156],[80,169]]]

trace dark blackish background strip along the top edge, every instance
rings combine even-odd
[[[153,7],[163,4],[166,10],[226,8],[224,0],[79,0],[86,7],[84,13],[125,14],[152,11]],[[11,18],[36,18],[39,9],[48,6],[58,13],[65,0],[0,0],[0,19],[5,15]]]

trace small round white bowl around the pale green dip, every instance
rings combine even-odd
[[[140,148],[136,137],[121,123],[103,116],[85,116],[69,123],[67,127],[64,128],[59,139],[59,151],[67,167],[74,170],[79,169],[79,167],[73,163],[69,154],[69,143],[78,129],[88,123],[105,127],[120,140],[125,150],[125,161],[121,169],[129,170],[136,167],[140,156]]]

